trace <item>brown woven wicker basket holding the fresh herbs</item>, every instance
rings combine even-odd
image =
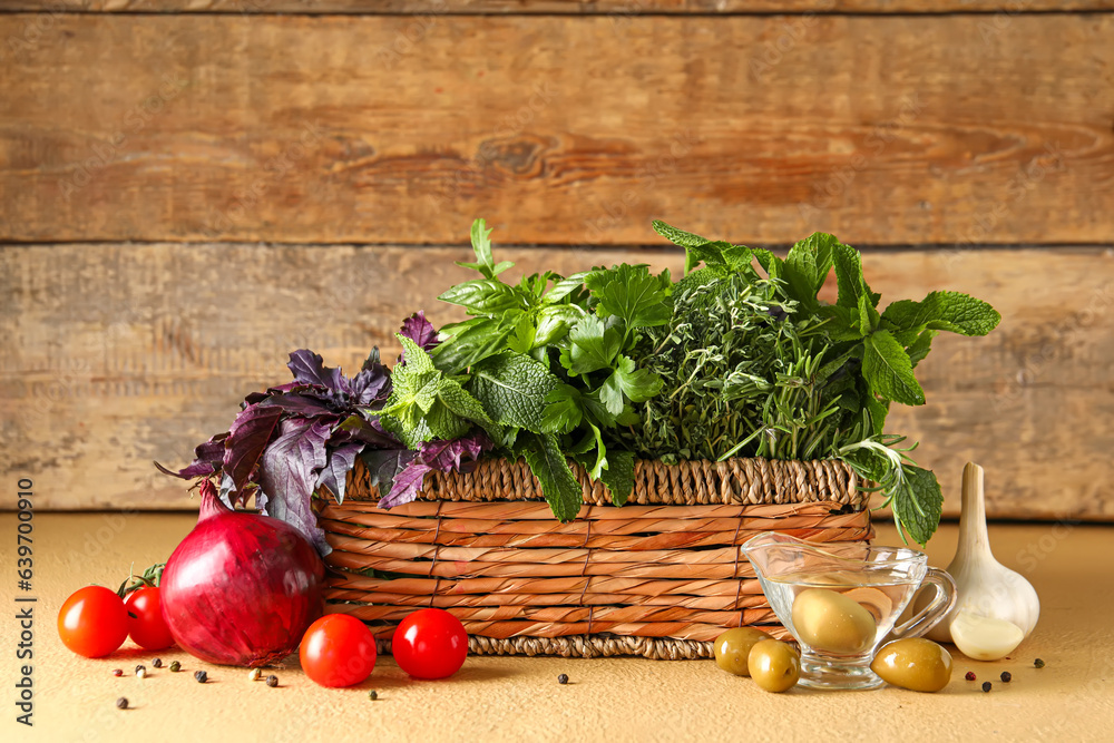
[[[785,635],[739,545],[763,531],[872,537],[868,495],[840,461],[638,461],[623,508],[573,468],[585,505],[561,524],[524,462],[431,473],[388,511],[358,459],[343,506],[320,517],[329,610],[367,622],[384,651],[399,620],[436,606],[465,624],[472,653],[711,657],[726,627]]]

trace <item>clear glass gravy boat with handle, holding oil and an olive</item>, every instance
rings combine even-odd
[[[778,619],[801,646],[801,686],[877,688],[870,669],[883,639],[918,637],[956,603],[956,584],[925,553],[864,544],[817,545],[768,532],[741,547]],[[921,584],[932,600],[895,626]]]

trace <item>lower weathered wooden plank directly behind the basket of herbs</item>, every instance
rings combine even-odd
[[[569,273],[673,251],[497,248]],[[456,247],[57,245],[0,250],[0,472],[32,477],[42,508],[183,508],[184,463],[243,397],[287,380],[286,354],[354,369],[371,345],[467,274]],[[890,430],[922,443],[956,514],[967,460],[991,517],[1114,519],[1114,250],[868,252],[883,301],[935,289],[991,302],[986,339],[941,336],[918,369],[928,404]]]

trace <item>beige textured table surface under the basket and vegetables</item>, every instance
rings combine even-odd
[[[113,677],[116,667],[150,668],[152,653],[128,641],[108,658],[89,661],[60,644],[58,609],[89,583],[118,585],[133,561],[164,560],[189,531],[187,515],[35,517],[35,726],[14,722],[12,684],[16,518],[0,515],[3,619],[0,620],[3,723],[0,740],[40,741],[1114,741],[1114,528],[991,525],[999,560],[1023,570],[1042,598],[1040,622],[1012,661],[977,663],[956,652],[950,685],[939,694],[886,687],[873,692],[768,694],[711,661],[654,662],[470,657],[455,677],[412,682],[380,657],[372,677],[351,690],[325,690],[299,671],[282,685],[251,683],[247,672],[208,666],[176,649],[163,661],[206,667],[153,671],[145,681]],[[895,544],[879,525],[876,544]],[[946,565],[957,528],[945,525],[929,545]],[[25,594],[21,594],[25,595]],[[26,605],[25,605],[26,606]],[[1042,657],[1047,666],[1033,667]],[[978,683],[964,681],[974,671]],[[1010,684],[998,682],[1010,671]],[[557,675],[567,673],[567,686]],[[994,681],[984,694],[979,685]],[[379,691],[379,701],[368,690]],[[133,708],[115,707],[125,695]]]

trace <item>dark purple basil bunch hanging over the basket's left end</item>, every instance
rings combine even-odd
[[[293,382],[247,395],[229,430],[198,446],[189,466],[177,472],[155,466],[183,479],[218,479],[221,499],[229,506],[246,505],[254,495],[257,509],[296,527],[328,554],[313,498],[328,490],[343,502],[356,457],[389,507],[413,500],[428,472],[465,470],[491,448],[482,430],[458,428],[450,431],[456,436],[421,442],[403,442],[384,430],[379,416],[393,394],[392,378],[404,379],[408,362],[420,364],[438,342],[421,312],[402,323],[400,338],[407,352],[394,374],[380,363],[379,349],[353,378],[325,366],[312,351],[291,353]]]

